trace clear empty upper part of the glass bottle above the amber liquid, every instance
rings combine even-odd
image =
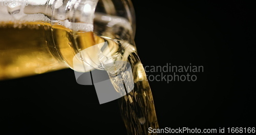
[[[130,0],[26,0],[0,3],[0,22],[8,21],[49,22],[74,31],[93,31],[97,27],[94,32],[98,35],[105,34],[102,30],[112,29],[112,33],[116,33],[119,28],[124,28],[133,38],[135,35],[135,16]]]

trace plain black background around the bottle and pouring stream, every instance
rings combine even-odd
[[[256,127],[255,5],[166,2],[133,1],[143,65],[204,72],[194,82],[150,81],[160,128]],[[0,86],[2,134],[125,134],[117,101],[99,105],[94,86],[77,84],[71,69]]]

